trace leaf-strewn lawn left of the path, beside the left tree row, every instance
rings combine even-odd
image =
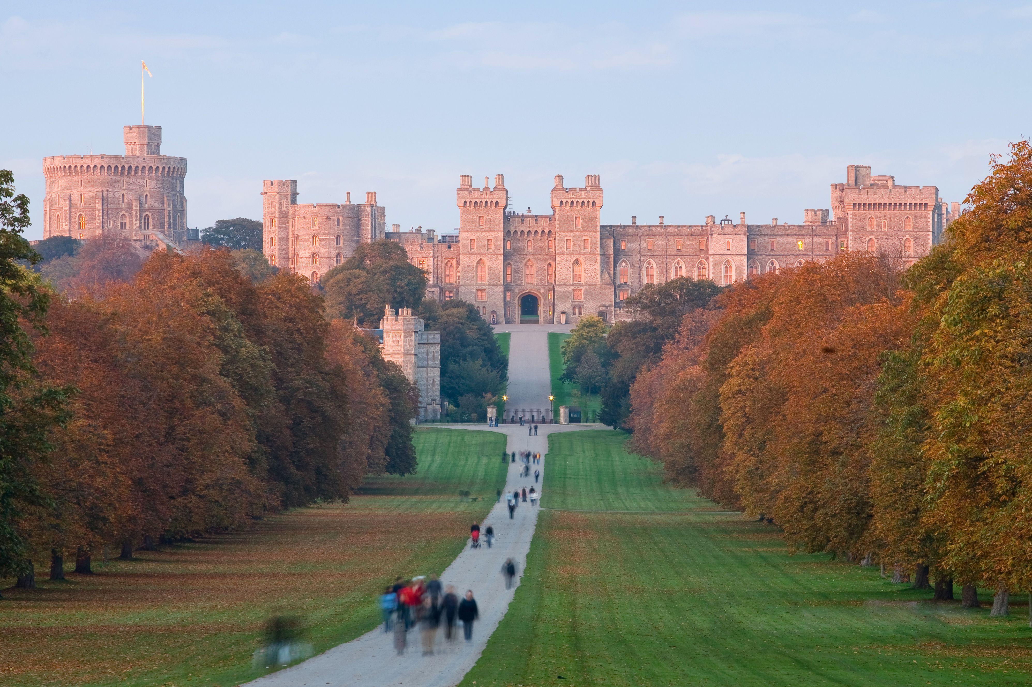
[[[4,590],[0,684],[235,685],[259,675],[251,653],[270,615],[302,619],[316,651],[373,628],[383,586],[440,574],[505,483],[502,434],[417,429],[414,441],[418,475],[372,478],[347,505]]]

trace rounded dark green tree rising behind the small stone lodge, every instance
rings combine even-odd
[[[379,327],[384,305],[419,307],[426,292],[426,273],[409,262],[400,243],[359,243],[343,265],[326,272],[322,287],[331,317],[357,319],[363,327]]]

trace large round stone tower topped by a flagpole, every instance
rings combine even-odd
[[[118,235],[143,247],[196,240],[187,229],[186,158],[161,155],[161,127],[123,127],[125,155],[43,158],[43,238]]]

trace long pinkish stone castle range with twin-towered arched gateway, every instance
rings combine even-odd
[[[439,236],[402,233],[397,225],[383,231],[384,208],[375,194],[361,206],[296,205],[296,182],[266,181],[264,188],[264,250],[273,264],[318,281],[360,240],[398,241],[426,271],[428,298],[461,298],[491,324],[576,324],[584,315],[611,322],[622,317],[626,298],[649,284],[686,276],[728,285],[846,250],[910,264],[928,255],[960,211],[959,203],[947,207],[934,186],[897,186],[894,176],[872,176],[866,165],[849,165],[845,183],[831,185],[831,209],[804,210],[803,224],[777,218],[748,224],[745,212],[737,221],[708,216],[695,225],[666,224],[663,217],[656,224],[634,217],[630,224],[602,224],[598,174],[588,174],[583,188],[567,188],[556,175],[551,214],[517,212],[509,208],[502,174],[493,187],[484,177],[481,188],[463,174],[455,197],[458,234]],[[356,219],[338,230],[340,208]]]

